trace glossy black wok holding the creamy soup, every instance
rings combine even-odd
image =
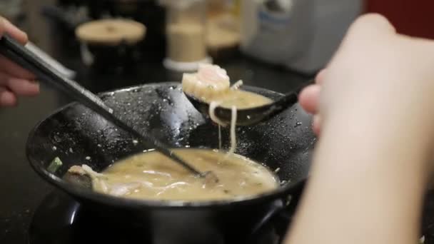
[[[280,93],[243,87],[270,98]],[[218,129],[203,118],[181,92],[179,83],[159,83],[101,94],[106,104],[136,129],[153,133],[174,148],[218,148]],[[34,170],[104,218],[139,226],[147,243],[241,243],[284,207],[289,195],[298,198],[308,176],[310,149],[315,136],[311,117],[294,106],[281,115],[252,127],[237,128],[237,153],[278,171],[281,188],[243,200],[189,203],[114,198],[74,185],[62,177],[69,167],[86,163],[101,171],[113,161],[137,153],[133,138],[78,103],[61,108],[31,131],[26,153]],[[223,146],[228,131],[223,129]],[[47,168],[59,157],[55,173]],[[87,158],[87,159],[86,159]],[[110,233],[106,233],[110,235]]]

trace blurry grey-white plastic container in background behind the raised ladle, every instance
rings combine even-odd
[[[302,73],[323,68],[362,0],[244,0],[241,50]]]

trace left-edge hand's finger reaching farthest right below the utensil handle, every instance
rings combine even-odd
[[[36,96],[39,93],[39,83],[15,78],[6,73],[0,73],[0,86],[6,86],[19,96]]]

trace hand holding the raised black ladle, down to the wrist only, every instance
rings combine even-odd
[[[331,115],[389,116],[375,123],[434,128],[428,126],[434,119],[434,41],[396,34],[382,16],[355,21],[316,81],[300,95],[301,106],[315,114],[316,133]]]

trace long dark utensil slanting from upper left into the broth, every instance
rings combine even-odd
[[[84,106],[91,108],[96,113],[99,113],[100,116],[106,118],[107,121],[110,121],[115,126],[123,129],[124,131],[131,133],[131,135],[135,138],[140,138],[141,142],[148,146],[149,148],[155,148],[158,152],[163,153],[163,155],[171,158],[171,160],[175,161],[186,170],[195,174],[201,178],[209,178],[213,181],[218,181],[216,176],[211,171],[201,172],[196,168],[191,166],[190,164],[183,161],[182,158],[173,153],[168,146],[158,141],[156,138],[149,134],[139,133],[133,127],[129,126],[121,119],[117,118],[115,114],[113,114],[113,110],[107,107],[104,102],[96,96],[91,91],[86,90],[83,86],[80,86],[76,81],[72,81],[68,78],[64,78],[59,72],[56,71],[53,67],[51,67],[48,63],[40,59],[36,54],[34,54],[29,49],[26,49],[21,44],[17,43],[11,37],[4,35],[0,39],[0,54],[6,56],[11,59],[15,63],[19,64],[23,68],[31,71],[38,78],[39,81],[46,83],[48,86],[58,89],[59,91],[64,92],[67,96],[70,96],[76,101],[79,101]]]

